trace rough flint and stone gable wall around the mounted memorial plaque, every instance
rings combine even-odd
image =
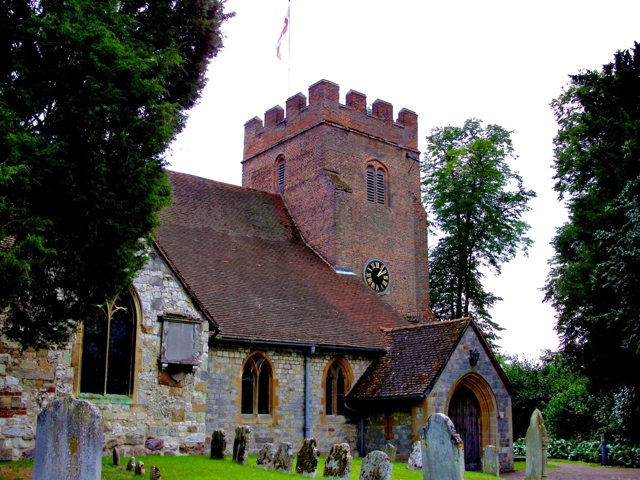
[[[139,314],[134,395],[127,403],[93,399],[104,416],[104,454],[111,454],[115,445],[123,455],[204,452],[207,322],[199,344],[200,366],[175,382],[159,369],[161,323],[157,316],[200,315],[156,253],[136,275],[134,291]],[[81,332],[73,333],[68,344],[50,350],[20,352],[14,342],[0,339],[0,460],[33,458],[40,410],[68,394],[83,398],[79,391]],[[163,446],[145,448],[151,436],[161,440],[155,442],[155,448]]]

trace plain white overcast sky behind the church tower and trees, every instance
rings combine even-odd
[[[287,0],[228,0],[236,17],[223,25],[225,49],[209,67],[209,83],[188,126],[173,144],[172,170],[241,184],[243,124],[319,79],[367,102],[386,100],[394,118],[419,115],[420,150],[436,125],[468,117],[512,135],[512,164],[538,193],[525,220],[536,242],[486,279],[501,296],[493,319],[506,330],[506,353],[538,356],[557,348],[554,311],[541,303],[548,244],[566,212],[552,190],[557,131],[549,102],[568,74],[599,69],[618,49],[640,41],[639,1],[291,1],[291,77],[287,49],[275,43]]]

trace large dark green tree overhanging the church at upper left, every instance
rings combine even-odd
[[[222,47],[223,6],[0,6],[0,311],[23,348],[67,341],[147,261],[163,152]]]

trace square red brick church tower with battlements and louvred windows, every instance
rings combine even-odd
[[[390,271],[383,298],[406,316],[429,309],[427,216],[420,203],[418,116],[321,80],[244,124],[243,186],[282,193],[305,240],[365,283],[368,260]],[[368,183],[367,183],[368,182]]]

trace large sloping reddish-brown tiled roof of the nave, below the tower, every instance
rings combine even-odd
[[[305,244],[282,197],[168,172],[156,245],[223,339],[384,349],[408,321]]]

